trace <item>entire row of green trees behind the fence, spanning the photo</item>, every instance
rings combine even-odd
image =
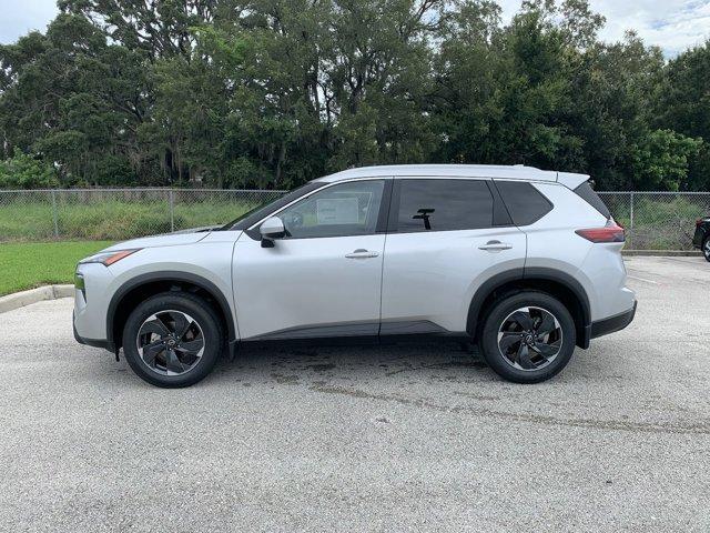
[[[0,159],[63,185],[292,188],[382,163],[710,187],[710,44],[602,42],[587,0],[61,0],[0,47]],[[14,167],[13,167],[14,168]]]

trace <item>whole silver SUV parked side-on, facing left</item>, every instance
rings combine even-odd
[[[213,229],[123,242],[77,268],[74,336],[159,386],[251,342],[473,341],[500,376],[557,374],[625,328],[623,229],[589,177],[402,165],[311,181]]]

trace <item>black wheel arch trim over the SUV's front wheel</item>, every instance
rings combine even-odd
[[[113,294],[106,312],[106,338],[118,350],[122,343],[122,331],[129,314],[138,303],[161,292],[186,291],[201,295],[212,304],[223,321],[230,345],[236,340],[232,309],[224,293],[210,280],[190,272],[161,271],[136,275],[126,281]]]

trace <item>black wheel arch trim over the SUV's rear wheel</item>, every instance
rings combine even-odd
[[[577,345],[589,348],[591,310],[585,288],[567,272],[546,268],[519,268],[501,272],[487,280],[474,294],[468,309],[466,331],[478,339],[486,312],[506,293],[537,290],[557,298],[575,320]]]

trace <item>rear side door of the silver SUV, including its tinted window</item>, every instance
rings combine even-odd
[[[489,180],[395,179],[381,334],[465,332],[476,290],[525,264],[526,237]]]

